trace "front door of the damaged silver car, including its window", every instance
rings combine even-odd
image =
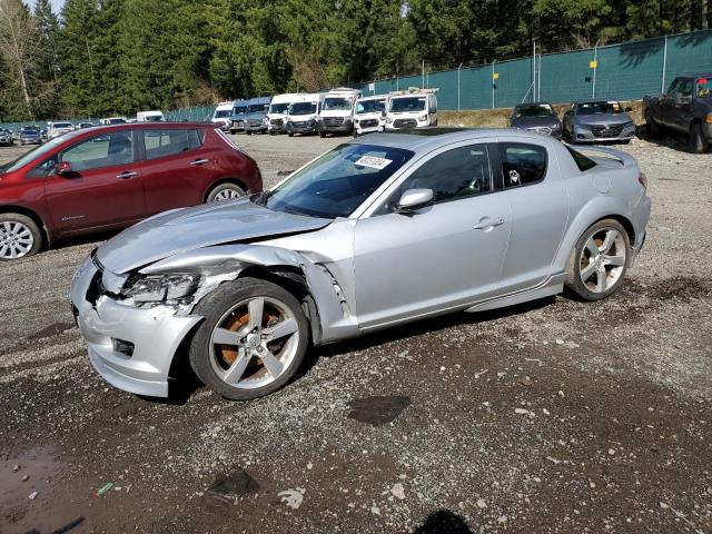
[[[372,328],[464,306],[496,291],[510,234],[510,205],[494,187],[491,147],[441,149],[389,190],[355,229],[359,326]],[[392,210],[408,189],[432,205]]]

